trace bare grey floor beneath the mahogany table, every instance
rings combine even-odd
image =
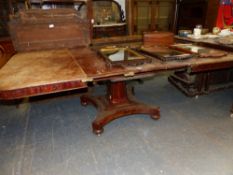
[[[0,175],[233,175],[232,89],[189,98],[166,76],[133,84],[161,119],[122,118],[99,137],[78,95],[1,103]]]

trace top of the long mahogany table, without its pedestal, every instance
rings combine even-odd
[[[17,99],[86,88],[86,82],[134,79],[177,69],[191,68],[198,72],[232,66],[232,54],[218,59],[191,58],[168,62],[153,58],[151,63],[143,65],[109,67],[105,60],[89,47],[24,52],[15,54],[0,69],[0,99]]]

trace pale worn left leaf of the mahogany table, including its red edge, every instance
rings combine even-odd
[[[86,78],[69,50],[17,53],[0,69],[0,97],[14,99],[82,88]]]

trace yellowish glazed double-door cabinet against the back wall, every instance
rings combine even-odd
[[[130,5],[133,34],[171,30],[175,5],[173,0],[132,0]]]

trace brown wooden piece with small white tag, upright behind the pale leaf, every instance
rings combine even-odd
[[[16,51],[88,46],[90,26],[75,9],[20,11],[9,23]]]

